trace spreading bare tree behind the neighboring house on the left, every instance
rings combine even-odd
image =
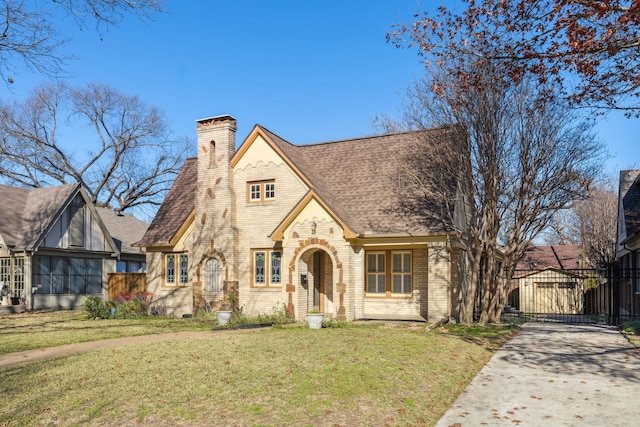
[[[7,182],[79,182],[92,202],[119,210],[159,205],[189,152],[188,141],[169,138],[158,109],[106,85],[40,86],[23,103],[0,106],[0,121]],[[64,123],[87,127],[86,136],[64,140]]]

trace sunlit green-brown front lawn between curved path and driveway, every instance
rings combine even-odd
[[[73,329],[83,322],[120,320],[72,319]],[[162,324],[136,330],[145,322]],[[212,332],[15,365],[0,371],[0,425],[429,426],[512,332],[341,326]]]

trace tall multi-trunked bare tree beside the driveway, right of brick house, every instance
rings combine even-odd
[[[404,121],[413,129],[457,123],[466,133],[450,142],[418,142],[398,176],[404,202],[415,212],[435,206],[457,237],[464,268],[461,321],[499,321],[508,281],[528,242],[555,212],[584,198],[598,173],[603,146],[559,97],[536,84],[514,83],[491,63],[478,62],[474,82],[460,84],[436,68],[408,92]],[[427,214],[429,215],[429,214]],[[502,246],[501,253],[498,247]]]

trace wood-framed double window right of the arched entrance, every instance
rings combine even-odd
[[[411,251],[372,251],[366,256],[369,295],[407,295],[412,291]]]

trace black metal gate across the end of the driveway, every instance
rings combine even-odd
[[[618,324],[614,269],[517,270],[503,319]]]

